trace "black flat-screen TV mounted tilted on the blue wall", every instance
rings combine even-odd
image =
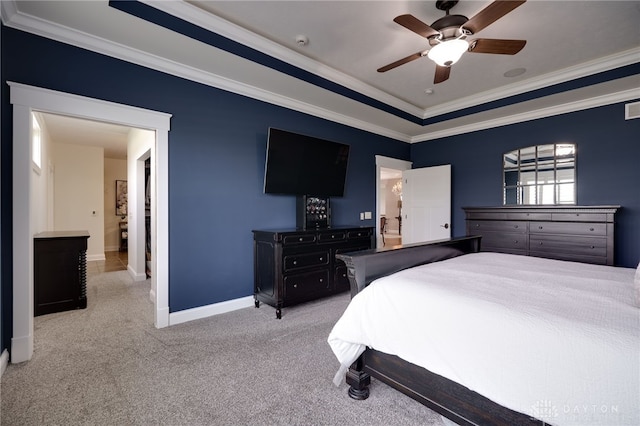
[[[266,194],[342,197],[349,145],[269,128]]]

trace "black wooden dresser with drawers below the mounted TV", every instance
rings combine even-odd
[[[372,227],[254,230],[254,299],[282,308],[349,290],[347,268],[336,254],[368,250]]]

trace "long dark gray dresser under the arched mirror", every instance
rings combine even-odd
[[[620,206],[464,207],[467,235],[482,251],[602,265],[614,264],[614,216]]]

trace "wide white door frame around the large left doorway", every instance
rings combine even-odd
[[[31,211],[31,117],[41,111],[155,131],[156,191],[151,244],[154,325],[169,325],[169,158],[171,114],[7,82],[13,107],[13,327],[11,362],[33,356],[33,235]],[[155,151],[155,152],[153,152]],[[153,202],[155,200],[155,203]]]

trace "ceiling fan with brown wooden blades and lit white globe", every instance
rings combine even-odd
[[[451,66],[455,64],[466,51],[473,53],[515,55],[522,50],[527,43],[526,40],[477,38],[467,41],[467,37],[488,27],[525,2],[526,0],[494,1],[469,19],[463,15],[449,15],[449,10],[458,3],[458,0],[438,0],[436,1],[436,8],[444,10],[446,16],[438,19],[431,25],[425,24],[413,15],[397,16],[393,20],[394,22],[428,39],[431,49],[414,53],[406,58],[385,65],[379,68],[378,72],[386,72],[407,62],[427,56],[436,63],[436,73],[433,82],[437,84],[449,78]]]

